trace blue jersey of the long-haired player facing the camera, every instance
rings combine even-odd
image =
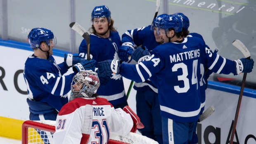
[[[95,34],[90,35],[90,58],[97,62],[107,59],[118,59],[118,48],[121,46],[121,39],[118,32],[110,31],[109,38],[101,38]],[[83,40],[79,47],[79,55],[87,57],[86,41]],[[122,76],[112,74],[106,85],[101,85],[97,90],[99,97],[107,99],[112,105],[126,101],[126,94]]]

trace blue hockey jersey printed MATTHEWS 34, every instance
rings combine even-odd
[[[219,72],[218,56],[203,40],[192,37],[183,42],[157,46],[149,59],[140,64],[121,64],[120,74],[136,82],[157,77],[161,116],[180,122],[198,120],[201,111],[200,63]]]

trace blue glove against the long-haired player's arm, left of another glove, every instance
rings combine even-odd
[[[133,54],[133,48],[129,47],[127,45],[122,45],[121,47],[119,47],[118,49],[118,56],[122,61],[129,61],[129,56],[131,56]]]

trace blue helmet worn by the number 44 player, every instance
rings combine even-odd
[[[28,42],[32,48],[39,48],[42,41],[45,41],[50,46],[51,39],[56,40],[53,33],[46,28],[33,28],[28,34]]]

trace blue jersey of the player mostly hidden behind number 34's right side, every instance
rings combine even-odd
[[[190,33],[187,37],[197,37],[197,38],[200,38],[201,40],[204,40],[203,37],[198,34],[198,33]],[[206,45],[206,47],[208,48],[208,50],[210,50],[210,48],[208,47],[208,45]],[[207,50],[207,51],[208,51]],[[211,50],[210,50],[211,51]],[[234,64],[234,61],[231,61],[229,59],[225,59],[223,57],[221,57],[220,55],[216,54],[216,53],[213,53],[211,51],[211,53],[213,54],[213,57],[216,57],[216,64],[217,64],[217,68],[219,67],[218,65],[221,65],[220,68],[218,68],[218,71],[217,73],[220,73],[220,74],[230,74],[230,73],[233,73],[233,74],[236,74],[236,69],[235,69],[235,64]],[[205,68],[209,68],[206,66],[206,64],[204,62],[201,63],[201,79],[200,79],[200,86],[201,86],[201,112],[202,113],[204,111],[204,105],[205,105],[205,99],[206,99],[206,94],[205,94],[205,85],[206,85],[206,73],[205,73]],[[212,68],[214,66],[211,66]],[[207,76],[209,77],[209,76]]]

